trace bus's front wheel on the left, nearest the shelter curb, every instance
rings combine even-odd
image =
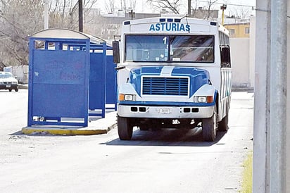
[[[133,125],[130,118],[118,116],[118,135],[121,140],[130,140],[133,134]]]

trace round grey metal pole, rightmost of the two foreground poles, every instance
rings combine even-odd
[[[287,0],[271,1],[270,192],[286,192]]]

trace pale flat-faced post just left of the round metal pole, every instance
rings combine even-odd
[[[269,192],[270,0],[256,1],[253,192]]]

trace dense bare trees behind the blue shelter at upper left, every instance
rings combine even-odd
[[[97,0],[84,0],[84,16]],[[49,26],[77,30],[73,0],[49,2]],[[44,0],[0,0],[1,66],[28,65],[28,36],[42,30]]]

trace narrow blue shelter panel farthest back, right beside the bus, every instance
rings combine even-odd
[[[107,56],[106,104],[117,104],[115,67],[116,64],[113,63],[113,56]]]

